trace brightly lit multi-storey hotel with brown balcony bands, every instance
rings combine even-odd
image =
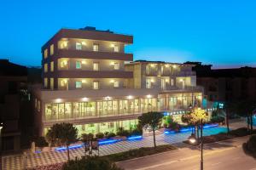
[[[133,37],[61,29],[42,48],[43,84],[34,88],[38,132],[71,122],[80,133],[131,129],[143,112],[180,115],[201,106],[193,65],[134,61],[125,53]]]

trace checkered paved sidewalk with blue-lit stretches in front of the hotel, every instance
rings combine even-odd
[[[226,132],[225,127],[212,127],[204,130],[204,135]],[[183,140],[188,139],[191,132],[156,135],[156,144],[173,144],[177,147],[185,147],[180,144]],[[141,147],[153,147],[153,136],[143,137],[141,140],[121,141],[114,144],[106,144],[100,146],[100,156],[106,156],[113,153],[124,152],[127,150],[138,149]],[[95,151],[97,154],[97,151]],[[70,150],[70,157],[84,156],[84,148]],[[37,167],[42,165],[50,165],[54,163],[67,161],[66,151],[51,151],[38,154],[28,154],[26,158],[26,167]],[[4,156],[3,169],[20,169],[23,167],[22,156]]]

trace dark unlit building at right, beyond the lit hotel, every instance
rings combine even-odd
[[[216,102],[256,100],[256,68],[215,69],[212,65],[194,64],[197,84],[205,88],[207,100]]]

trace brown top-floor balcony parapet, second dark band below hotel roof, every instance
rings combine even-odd
[[[53,59],[57,60],[60,58],[114,59],[114,60],[132,61],[133,54],[102,52],[102,51],[85,51],[85,50],[75,50],[75,49],[58,49],[55,55],[53,56]],[[47,59],[45,61],[47,61]]]

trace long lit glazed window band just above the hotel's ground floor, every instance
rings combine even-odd
[[[104,116],[122,116],[148,111],[179,111],[201,106],[201,94],[177,94],[159,98],[108,99],[87,102],[46,103],[44,121],[73,120]]]

